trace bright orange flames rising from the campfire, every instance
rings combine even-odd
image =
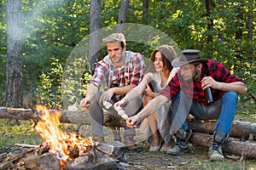
[[[57,154],[61,160],[61,166],[66,161],[73,159],[73,151],[79,156],[88,152],[92,144],[89,139],[78,137],[75,133],[65,133],[60,126],[61,111],[49,112],[45,105],[37,105],[39,122],[35,129],[44,140],[44,144],[50,147],[50,152]]]

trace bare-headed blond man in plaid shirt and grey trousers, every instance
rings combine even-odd
[[[102,132],[103,125],[103,101],[108,101],[112,105],[122,99],[132,88],[136,87],[143,77],[145,67],[143,55],[126,51],[125,36],[122,33],[113,33],[103,42],[107,44],[108,55],[96,63],[96,69],[89,88],[86,91],[86,97],[81,100],[80,105],[84,110],[90,113],[91,133],[93,139],[102,143],[104,135]],[[103,88],[103,92],[100,89]],[[142,97],[132,100],[125,107],[125,113],[128,116],[137,114]],[[118,116],[113,107],[104,108],[111,114]],[[132,146],[135,144],[133,137],[134,129],[125,129],[124,142]]]

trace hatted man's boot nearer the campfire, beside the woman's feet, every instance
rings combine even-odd
[[[172,156],[183,155],[184,153],[189,152],[189,138],[192,134],[192,130],[189,129],[188,131],[179,130],[175,136],[177,138],[177,142],[170,148],[166,150],[166,154]]]

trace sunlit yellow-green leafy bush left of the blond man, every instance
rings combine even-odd
[[[63,66],[58,59],[51,63],[54,67],[39,77],[38,88],[36,89],[38,99],[50,108],[64,109],[64,105],[79,104],[82,96],[85,96],[91,74],[82,73],[82,78],[75,78],[79,75],[79,69],[83,59],[74,59],[72,65],[63,71]],[[63,77],[63,78],[62,78]],[[64,104],[63,104],[64,103]]]

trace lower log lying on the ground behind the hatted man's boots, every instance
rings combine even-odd
[[[207,133],[193,133],[191,136],[191,142],[193,144],[209,148],[212,145],[212,135]],[[255,148],[255,143],[241,142],[235,139],[227,139],[223,145],[225,153],[247,158],[256,158]]]

